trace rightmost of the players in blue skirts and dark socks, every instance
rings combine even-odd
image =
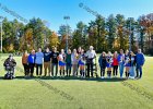
[[[129,77],[129,70],[130,70],[130,57],[129,57],[129,50],[126,51],[125,55],[125,66],[126,66],[126,78]]]

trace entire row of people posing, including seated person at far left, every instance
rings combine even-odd
[[[12,59],[12,56],[5,60],[4,66],[8,60],[11,61],[10,59]],[[32,50],[30,55],[25,51],[22,56],[22,64],[24,66],[25,77],[34,76],[35,68],[36,76],[42,76],[44,71],[44,76],[59,75],[63,77],[73,75],[93,77],[94,59],[96,59],[96,52],[93,46],[90,46],[90,49],[86,52],[81,47],[73,49],[72,52],[71,49],[68,49],[67,52],[61,49],[61,51],[58,52],[56,47],[54,47],[51,51],[49,48],[46,48],[43,52],[42,48],[38,48],[37,51]],[[116,77],[118,75],[118,68],[121,78],[123,77],[123,71],[127,78],[141,78],[144,61],[145,59],[141,49],[138,50],[137,55],[128,50],[123,53],[122,49],[119,53],[115,51],[114,55],[111,55],[110,51],[108,51],[108,53],[103,51],[98,58],[101,78],[110,78],[111,76]],[[15,60],[13,60],[13,66],[15,66]],[[105,76],[106,69],[107,76]]]

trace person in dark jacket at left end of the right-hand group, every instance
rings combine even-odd
[[[105,52],[102,52],[102,55],[99,56],[98,64],[99,64],[99,68],[101,68],[101,78],[104,78],[104,76],[105,76],[105,69],[106,69],[106,64],[107,64],[106,53]]]

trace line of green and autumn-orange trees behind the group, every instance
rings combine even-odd
[[[3,52],[17,52],[37,49],[38,47],[69,48],[94,46],[97,52],[115,51],[131,48],[136,51],[141,48],[143,52],[153,55],[153,14],[139,16],[138,20],[126,19],[121,14],[110,14],[107,19],[96,16],[89,24],[80,21],[74,31],[70,25],[61,25],[58,33],[40,19],[33,17],[27,24],[17,20],[2,21]]]

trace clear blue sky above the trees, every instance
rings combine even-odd
[[[104,17],[119,13],[126,17],[138,19],[142,14],[153,12],[153,0],[0,0],[2,5],[24,19],[40,17],[48,21],[49,28],[56,32],[61,24],[66,24],[64,15],[70,16],[68,24],[72,29],[79,21],[87,24],[91,20],[95,20],[93,14],[79,7],[81,2]],[[2,9],[0,9],[0,15],[9,20],[15,19]]]

